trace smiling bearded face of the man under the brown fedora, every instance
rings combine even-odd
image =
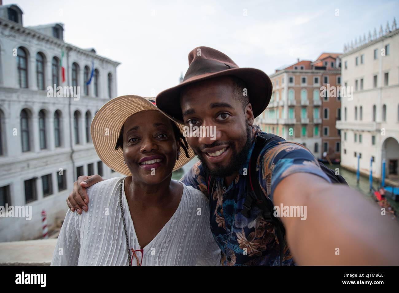
[[[231,78],[219,77],[184,88],[180,98],[186,126],[215,126],[215,140],[186,138],[205,171],[214,177],[226,177],[239,171],[251,147],[252,106],[248,104],[244,109],[234,89]]]

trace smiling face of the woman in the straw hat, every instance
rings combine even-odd
[[[159,111],[136,113],[123,125],[123,156],[135,182],[158,184],[167,179],[179,147],[171,121]]]

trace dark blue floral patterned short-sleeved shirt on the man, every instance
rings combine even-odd
[[[252,131],[252,137],[262,132],[259,126],[252,126]],[[216,178],[213,183],[209,198],[209,221],[213,237],[222,250],[222,265],[280,265],[280,247],[275,225],[266,222],[256,206],[251,209],[250,218],[240,213],[247,196],[247,180],[243,169],[248,170],[254,145],[253,143],[246,163],[228,188],[225,187],[223,178]],[[306,147],[282,139],[266,143],[257,159],[256,168],[261,189],[272,201],[279,182],[293,173],[312,173],[331,182]],[[181,181],[207,195],[206,178],[207,174],[199,161]],[[284,243],[282,264],[294,265],[286,239]]]

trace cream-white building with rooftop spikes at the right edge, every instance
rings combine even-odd
[[[396,21],[385,29],[374,29],[345,45],[342,83],[353,87],[352,98],[342,98],[343,119],[341,165],[369,174],[373,157],[373,177],[381,179],[386,161],[388,184],[398,185],[399,160],[399,29]]]

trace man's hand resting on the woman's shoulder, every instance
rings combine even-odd
[[[96,184],[97,182],[103,181],[100,175],[91,175],[91,176],[79,176],[77,181],[73,183],[73,191],[67,198],[67,205],[71,209],[71,211],[77,211],[79,214],[82,214],[82,209],[87,212],[89,210],[89,197],[86,193],[86,188],[91,185]]]

